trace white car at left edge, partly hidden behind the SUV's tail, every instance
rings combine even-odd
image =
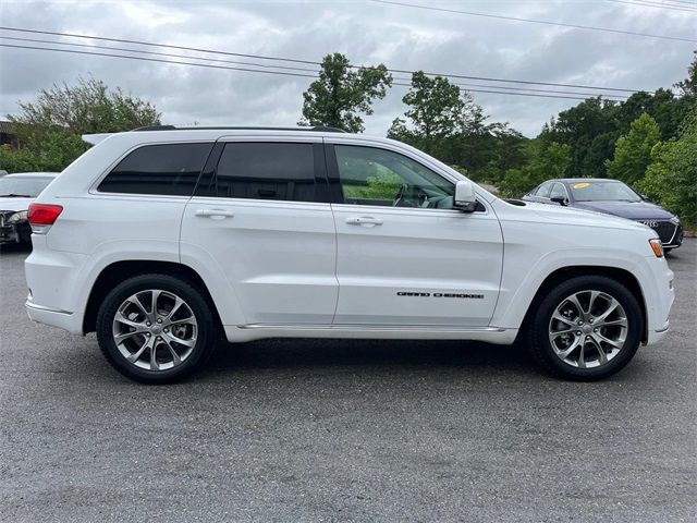
[[[32,241],[27,209],[57,172],[22,172],[0,177],[0,244]]]

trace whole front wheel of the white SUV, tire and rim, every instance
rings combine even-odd
[[[584,276],[547,294],[533,317],[528,341],[548,372],[592,381],[629,363],[643,329],[641,309],[626,287],[611,278]]]

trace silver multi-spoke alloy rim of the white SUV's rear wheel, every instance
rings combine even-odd
[[[192,307],[161,289],[138,291],[124,300],[113,318],[113,341],[136,367],[162,372],[184,363],[196,346],[198,323]]]

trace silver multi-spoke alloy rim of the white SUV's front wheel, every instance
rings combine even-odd
[[[607,365],[622,351],[627,330],[627,315],[617,300],[602,291],[579,291],[554,308],[549,342],[565,364],[595,368]]]

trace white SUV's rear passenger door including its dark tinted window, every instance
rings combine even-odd
[[[321,138],[232,137],[216,149],[184,210],[182,260],[224,275],[239,311],[223,323],[331,324],[337,245]]]

